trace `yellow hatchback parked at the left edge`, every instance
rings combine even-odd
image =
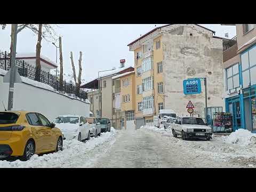
[[[27,161],[34,154],[62,150],[62,144],[61,131],[42,114],[0,112],[0,157],[19,156]]]

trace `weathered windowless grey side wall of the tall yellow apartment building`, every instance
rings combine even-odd
[[[193,24],[178,24],[163,29],[165,109],[189,115],[186,106],[191,100],[195,115],[204,117],[204,82],[201,81],[202,94],[183,94],[183,80],[194,77],[207,77],[208,107],[224,108],[222,39],[213,38],[212,31]]]

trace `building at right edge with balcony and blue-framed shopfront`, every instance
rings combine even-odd
[[[236,37],[223,46],[226,111],[234,131],[256,132],[256,25],[234,25]]]

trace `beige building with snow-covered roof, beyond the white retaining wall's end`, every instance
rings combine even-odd
[[[81,88],[94,90],[88,93],[88,99],[92,101],[90,109],[91,111],[93,110],[92,112],[95,117],[109,118],[112,122],[112,77],[132,70],[134,70],[133,67],[125,67],[125,65],[122,64],[120,68],[104,71],[100,73],[100,78],[97,77],[93,81],[87,82],[81,86]],[[101,91],[99,91],[99,89]],[[90,98],[92,98],[92,100]]]

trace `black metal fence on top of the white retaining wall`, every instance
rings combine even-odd
[[[59,91],[63,94],[67,93],[71,97],[81,98],[83,100],[87,99],[87,92],[81,89],[77,91],[76,86],[72,83],[63,81],[61,89],[60,81],[57,76],[43,70],[36,70],[36,67],[31,66],[28,62],[25,62],[24,60],[16,59],[15,64],[20,76],[28,77],[33,80],[37,79],[38,82],[50,85],[53,87],[54,90]],[[6,51],[0,51],[0,68],[6,71],[10,69],[10,57]]]

